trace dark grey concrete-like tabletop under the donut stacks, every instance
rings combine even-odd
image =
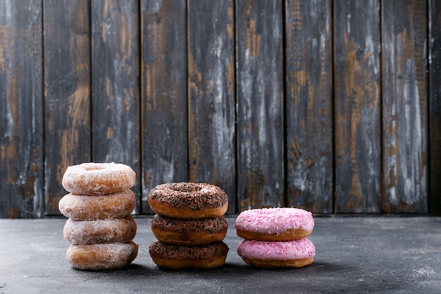
[[[255,269],[237,255],[234,217],[225,266],[156,267],[149,218],[137,218],[139,255],[118,271],[66,261],[66,219],[0,219],[0,293],[441,293],[441,218],[316,217],[316,259],[302,269]]]

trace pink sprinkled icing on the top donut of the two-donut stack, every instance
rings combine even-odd
[[[311,212],[294,207],[249,209],[241,212],[235,228],[256,233],[280,234],[287,230],[312,231],[314,220]]]

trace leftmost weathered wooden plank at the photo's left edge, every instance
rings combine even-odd
[[[42,2],[0,1],[0,218],[43,214],[42,48]]]

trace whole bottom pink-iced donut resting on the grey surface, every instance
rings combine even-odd
[[[237,254],[254,267],[306,267],[316,256],[316,247],[306,239],[292,241],[242,240]]]

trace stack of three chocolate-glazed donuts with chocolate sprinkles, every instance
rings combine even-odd
[[[148,195],[151,209],[151,259],[168,269],[211,269],[225,264],[228,196],[206,183],[166,183]]]

